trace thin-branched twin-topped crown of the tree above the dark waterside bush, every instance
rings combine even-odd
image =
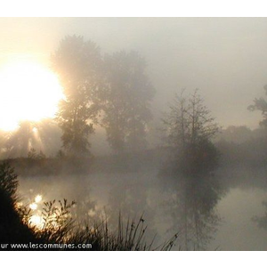
[[[196,147],[201,142],[210,141],[218,133],[218,125],[203,102],[198,89],[189,99],[183,96],[183,92],[180,96],[176,95],[170,112],[163,119],[172,147]]]

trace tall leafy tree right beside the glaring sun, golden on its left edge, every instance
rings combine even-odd
[[[100,49],[82,36],[66,36],[52,62],[65,94],[56,117],[63,148],[71,155],[85,155],[90,146],[88,135],[93,134],[99,111],[94,96],[101,86]]]

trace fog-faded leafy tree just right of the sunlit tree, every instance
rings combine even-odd
[[[117,153],[143,148],[155,93],[145,74],[145,61],[138,53],[122,51],[107,55],[104,63],[101,125],[109,145]]]

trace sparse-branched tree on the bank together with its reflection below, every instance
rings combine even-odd
[[[171,178],[171,206],[181,246],[206,248],[219,217],[215,206],[222,190],[214,176],[218,152],[211,142],[218,132],[214,118],[196,91],[189,99],[177,97],[164,120],[170,158],[160,176]]]

